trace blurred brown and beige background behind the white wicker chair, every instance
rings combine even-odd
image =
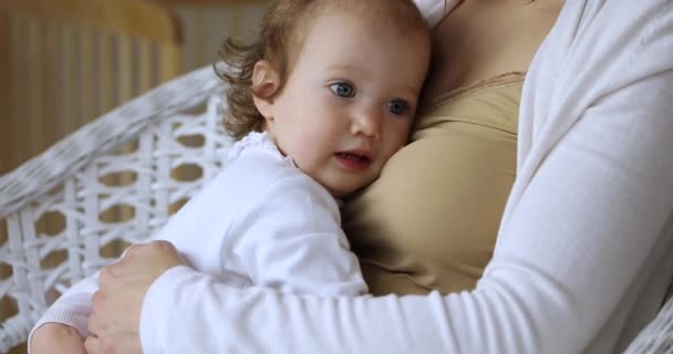
[[[226,37],[253,35],[267,3],[0,0],[0,176],[120,104],[211,64]],[[0,225],[0,244],[7,240]],[[0,278],[10,275],[0,263]],[[15,310],[0,299],[1,319]]]

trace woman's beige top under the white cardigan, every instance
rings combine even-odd
[[[515,178],[522,81],[507,74],[441,97],[346,202],[343,227],[373,294],[475,287]]]

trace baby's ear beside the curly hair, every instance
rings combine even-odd
[[[252,69],[252,101],[257,111],[268,119],[273,119],[273,96],[280,87],[278,71],[269,61],[260,60]]]

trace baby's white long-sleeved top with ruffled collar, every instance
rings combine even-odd
[[[226,167],[153,239],[173,242],[196,270],[228,285],[321,296],[366,292],[336,200],[263,133],[230,147]],[[34,329],[59,322],[87,335],[96,277],[63,293]]]

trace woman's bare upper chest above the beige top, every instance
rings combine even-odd
[[[433,30],[424,101],[508,72],[526,72],[563,1],[462,1]]]

